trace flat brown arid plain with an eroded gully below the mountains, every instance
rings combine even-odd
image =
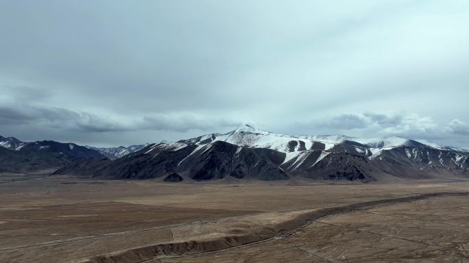
[[[0,262],[469,262],[469,181],[1,175]]]

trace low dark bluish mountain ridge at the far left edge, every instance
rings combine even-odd
[[[60,168],[86,159],[105,158],[101,153],[73,143],[21,142],[20,147],[0,147],[0,172],[27,172]]]

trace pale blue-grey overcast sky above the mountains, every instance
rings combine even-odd
[[[469,147],[469,1],[0,0],[0,135],[228,132]]]

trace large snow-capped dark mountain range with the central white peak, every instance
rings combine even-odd
[[[287,136],[245,125],[227,134],[148,145],[114,161],[88,160],[57,173],[107,179],[396,181],[466,177],[468,157],[462,149],[400,137]]]

